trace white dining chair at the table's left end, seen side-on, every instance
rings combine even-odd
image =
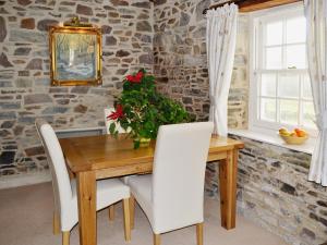
[[[76,182],[70,180],[61,146],[53,128],[46,121],[37,119],[36,128],[45,148],[55,196],[53,233],[62,232],[62,244],[69,245],[70,231],[78,222]],[[131,240],[130,188],[119,179],[97,181],[97,210],[123,200],[125,240]]]

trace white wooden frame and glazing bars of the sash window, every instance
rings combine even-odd
[[[263,11],[256,11],[253,12],[252,14],[250,14],[250,59],[249,59],[249,71],[250,71],[250,95],[249,95],[249,128],[251,131],[256,131],[256,132],[262,132],[262,133],[268,133],[268,134],[276,134],[276,132],[278,131],[278,128],[280,127],[287,127],[289,130],[292,130],[295,126],[292,126],[290,124],[283,124],[283,123],[278,123],[278,122],[268,122],[268,121],[263,121],[259,120],[259,85],[261,85],[261,74],[276,74],[276,83],[278,83],[278,76],[280,76],[280,74],[299,74],[301,77],[299,81],[299,93],[300,93],[300,97],[299,98],[292,98],[292,100],[296,100],[299,101],[299,108],[300,111],[298,113],[298,121],[299,118],[301,117],[301,113],[303,110],[303,106],[300,105],[300,102],[302,103],[303,101],[312,101],[306,100],[305,98],[302,97],[302,86],[303,86],[303,74],[307,74],[307,69],[296,69],[296,70],[292,70],[292,69],[288,69],[288,68],[282,68],[282,69],[275,69],[275,70],[268,70],[268,69],[263,69],[264,68],[264,63],[266,62],[266,58],[265,54],[259,56],[258,52],[263,52],[265,49],[265,40],[264,38],[266,37],[265,35],[265,30],[263,29],[258,29],[258,28],[263,28],[263,24],[267,23],[269,21],[283,21],[282,19],[284,17],[292,17],[292,16],[298,16],[299,14],[304,14],[304,7],[301,3],[294,3],[294,4],[288,4],[288,5],[283,5],[283,7],[277,7],[277,8],[271,8],[269,10],[263,10]],[[280,16],[279,19],[276,17],[276,15],[278,14],[278,16]],[[259,22],[262,22],[262,25],[259,24]],[[283,32],[286,32],[286,28],[283,28]],[[286,33],[283,33],[283,37]],[[263,35],[259,37],[259,35]],[[300,44],[300,42],[299,42]],[[303,42],[301,42],[303,44]],[[292,45],[296,45],[296,44],[292,44]],[[257,47],[258,46],[258,47]],[[284,47],[287,47],[287,45],[284,44],[284,40],[281,44],[282,49]],[[282,58],[281,59],[286,59],[286,52],[282,51]],[[287,65],[286,60],[282,60],[282,64]],[[307,66],[307,60],[306,60],[306,66]],[[259,74],[257,74],[257,72],[259,72]],[[276,89],[278,89],[278,84],[276,85]],[[278,90],[276,91],[278,93]],[[280,98],[277,94],[276,94],[276,103],[278,103],[278,98]],[[282,97],[284,98],[284,97]],[[279,106],[276,105],[276,117],[278,117],[279,112]],[[303,114],[302,114],[303,115]],[[278,120],[278,118],[277,118]],[[299,125],[298,125],[299,126]],[[303,126],[301,126],[303,127]],[[315,128],[311,128],[311,127],[303,127],[304,130],[306,130],[311,136],[316,136],[317,135],[317,130]]]

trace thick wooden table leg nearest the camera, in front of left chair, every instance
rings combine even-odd
[[[95,172],[77,173],[80,244],[97,244]]]

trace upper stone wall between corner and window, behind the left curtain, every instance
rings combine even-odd
[[[206,20],[203,10],[215,1],[156,1],[154,11],[154,73],[158,87],[180,100],[197,120],[208,119],[209,82]],[[219,2],[219,1],[216,1]],[[232,84],[228,103],[229,126],[247,126],[247,16],[240,16]]]

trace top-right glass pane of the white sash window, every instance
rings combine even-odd
[[[287,44],[305,42],[305,17],[295,17],[287,20]]]

